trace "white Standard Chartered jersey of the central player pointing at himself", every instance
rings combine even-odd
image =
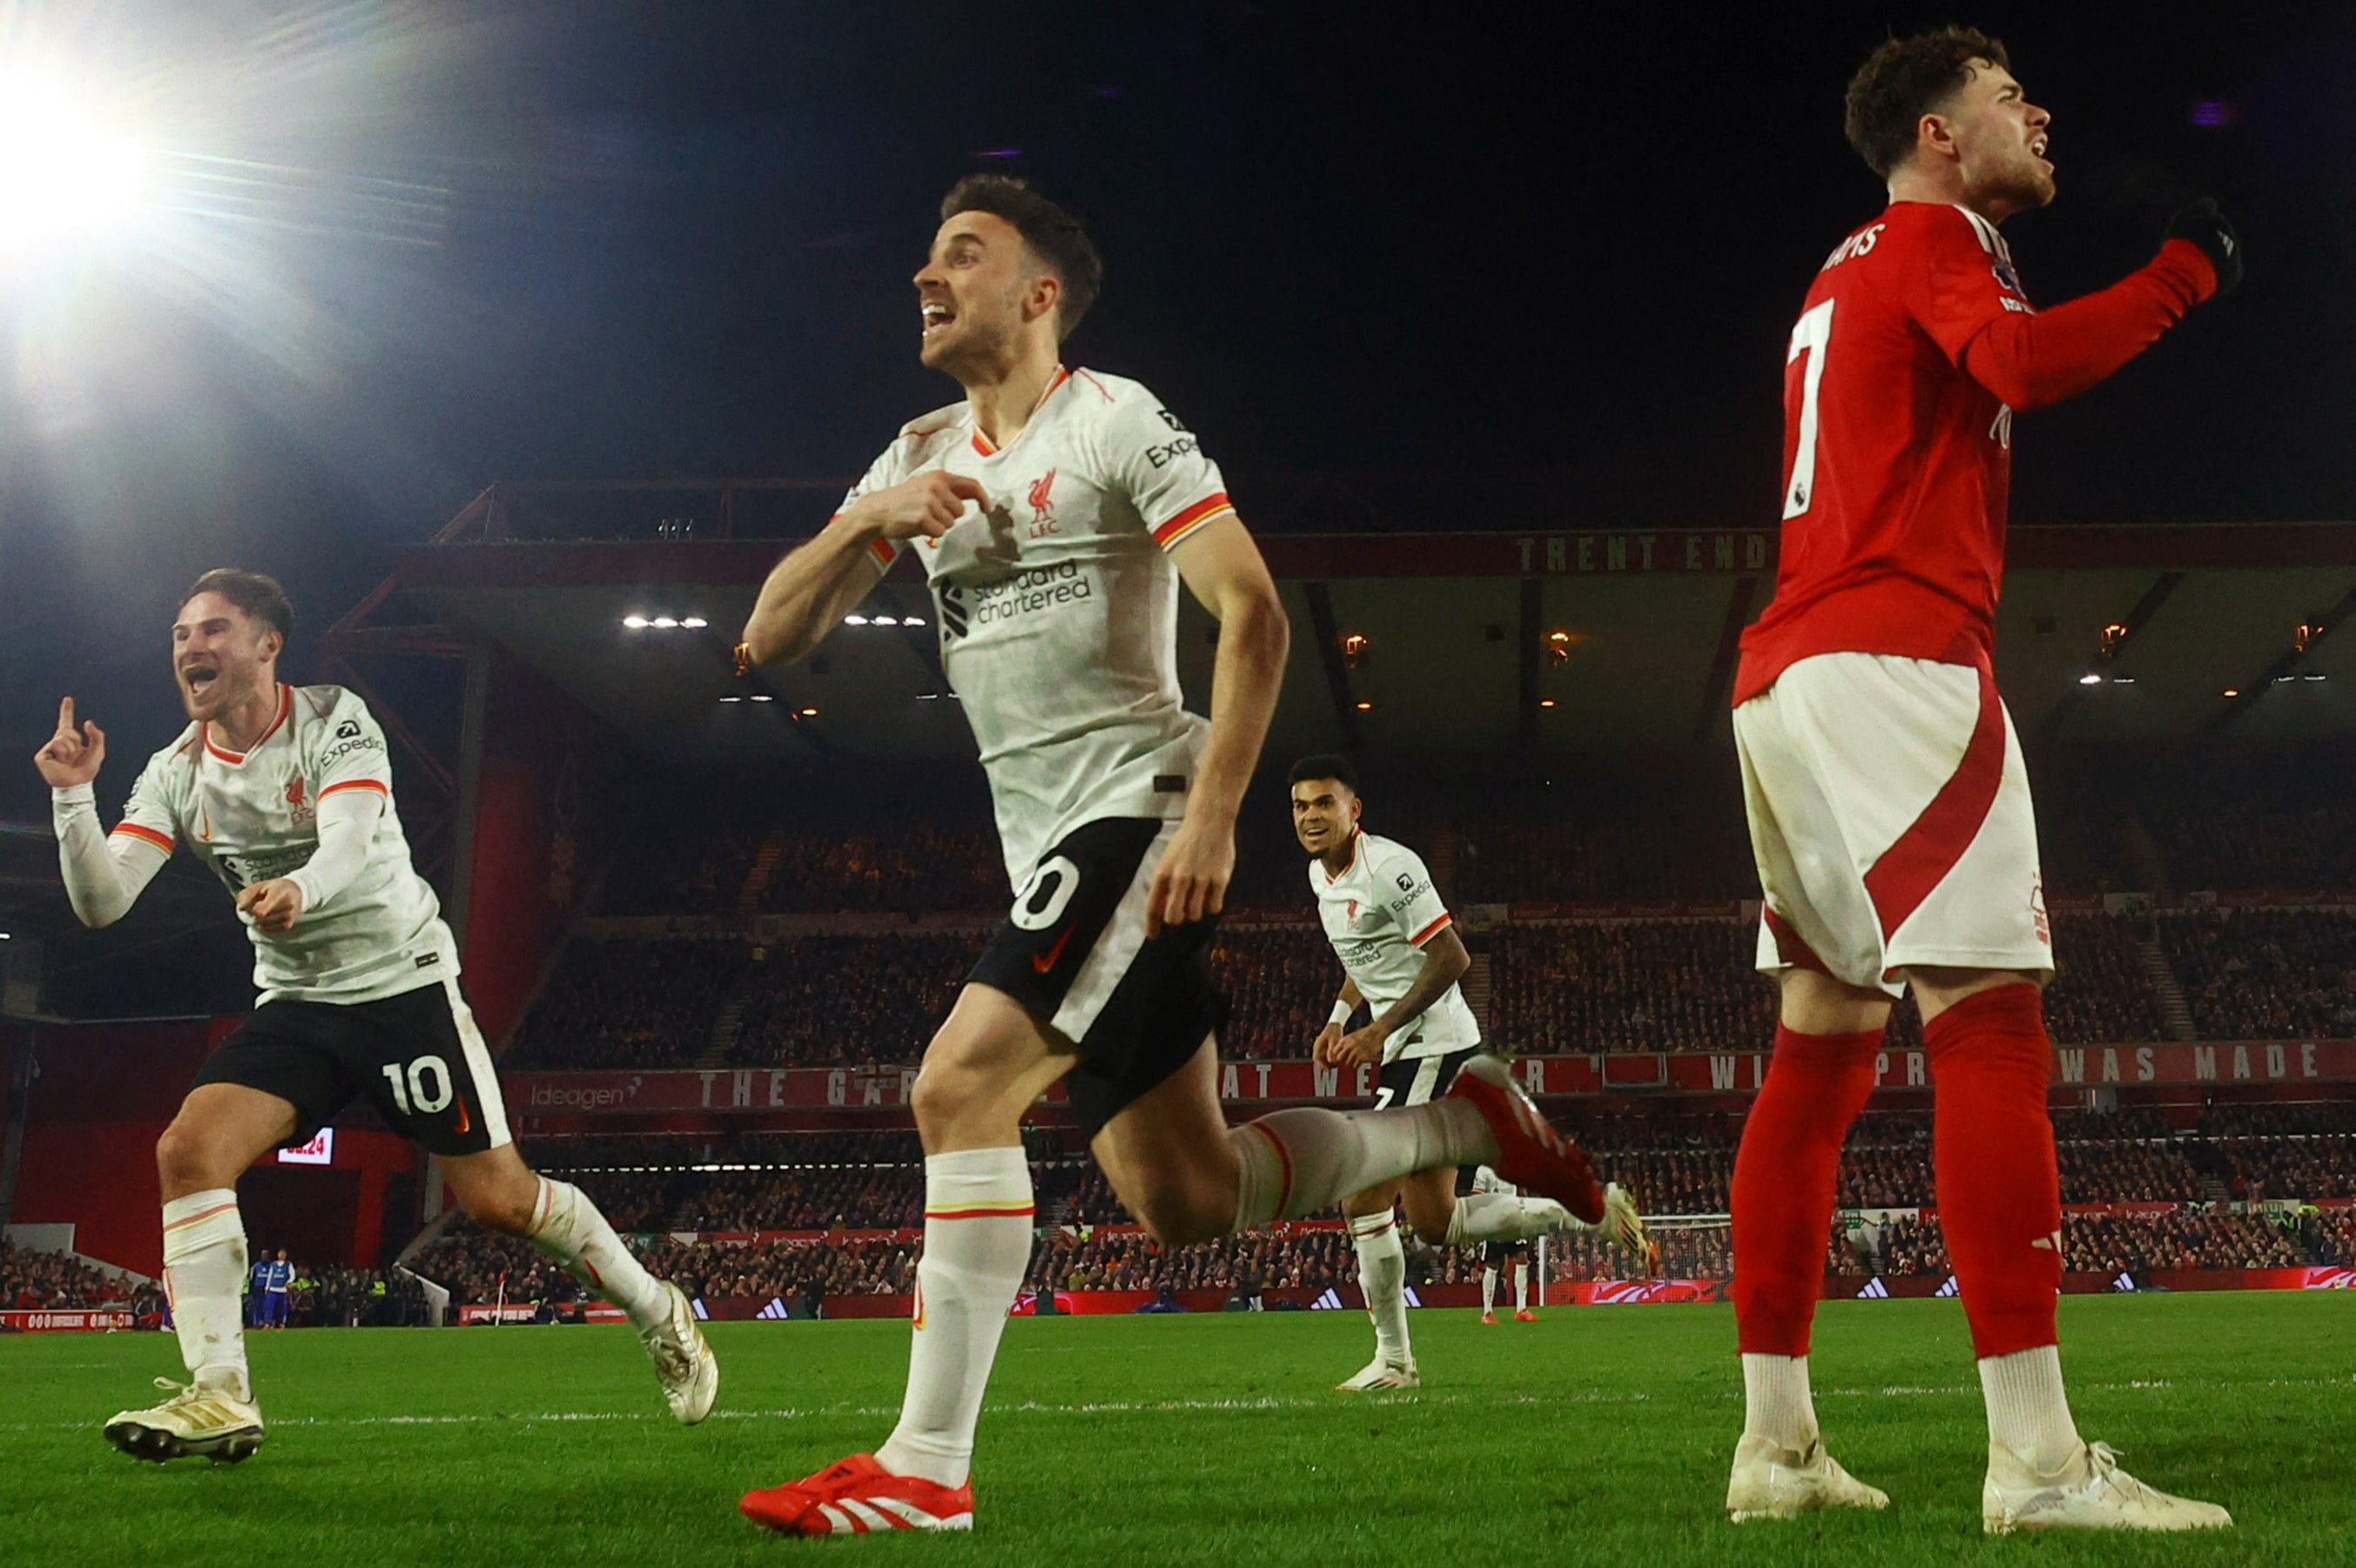
[[[1100,817],[1178,817],[1209,720],[1178,690],[1169,553],[1227,516],[1218,464],[1124,377],[1058,370],[1023,436],[992,447],[952,403],[907,424],[853,499],[926,471],[990,492],[914,549],[933,586],[940,664],[990,775],[1006,876]]]

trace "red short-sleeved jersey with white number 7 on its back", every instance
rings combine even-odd
[[[1783,363],[1783,542],[1734,702],[1821,652],[1986,666],[2012,410],[1965,348],[2031,313],[1996,224],[1892,202],[1816,273]]]

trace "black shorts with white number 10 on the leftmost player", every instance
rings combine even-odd
[[[490,1048],[455,979],[372,1003],[262,1003],[196,1069],[191,1088],[205,1083],[292,1102],[290,1144],[311,1142],[353,1097],[426,1154],[483,1154],[509,1142]]]

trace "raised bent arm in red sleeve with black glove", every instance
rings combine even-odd
[[[2050,311],[2012,301],[1988,252],[1939,214],[1939,264],[1920,273],[1934,292],[1918,315],[1974,381],[2010,407],[2047,407],[2109,379],[2196,304],[2241,278],[2241,238],[2215,202],[2170,224],[2160,254],[2111,287]]]

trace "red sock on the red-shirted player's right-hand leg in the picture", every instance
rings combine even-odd
[[[1922,1029],[1939,1097],[1939,1227],[1979,1358],[2054,1344],[2062,1172],[2045,1116],[2052,1041],[2033,984],[1974,991]]]

